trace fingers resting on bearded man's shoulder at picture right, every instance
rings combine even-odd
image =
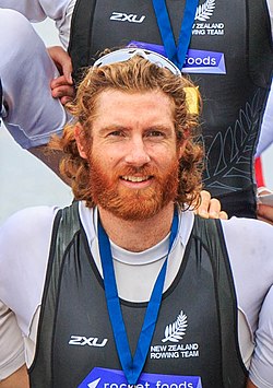
[[[201,203],[194,210],[195,214],[202,216],[203,219],[228,219],[227,213],[221,210],[221,202],[216,198],[212,198],[209,191],[202,190],[200,195]]]

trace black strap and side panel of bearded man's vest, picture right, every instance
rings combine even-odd
[[[221,221],[195,216],[192,237],[195,239],[195,249],[201,251],[199,245],[202,245],[207,251],[214,271],[224,387],[245,387],[248,372],[240,355],[237,297]]]

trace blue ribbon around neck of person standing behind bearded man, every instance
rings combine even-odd
[[[162,35],[165,51],[180,70],[183,67],[190,45],[191,30],[194,22],[199,0],[186,0],[185,12],[178,39],[178,47],[174,37],[165,0],[153,0],[157,25]]]

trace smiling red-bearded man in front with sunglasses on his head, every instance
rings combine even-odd
[[[74,203],[0,231],[1,388],[272,387],[272,226],[194,216],[198,101],[152,51],[90,69],[51,143]]]

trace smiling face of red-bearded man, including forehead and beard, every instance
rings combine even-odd
[[[91,195],[124,220],[144,220],[174,201],[180,152],[173,104],[162,92],[103,92],[93,121]]]

